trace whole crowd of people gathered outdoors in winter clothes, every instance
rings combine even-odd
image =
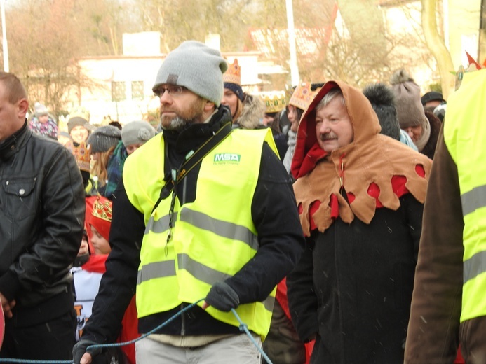
[[[67,130],[0,72],[0,358],[485,363],[485,68],[263,98],[184,41],[157,129]]]

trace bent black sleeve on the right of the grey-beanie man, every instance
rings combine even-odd
[[[258,251],[226,280],[238,294],[240,304],[265,300],[297,264],[305,244],[290,177],[268,144],[262,150],[252,219],[257,228]]]

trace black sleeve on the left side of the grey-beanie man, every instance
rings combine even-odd
[[[119,335],[123,314],[135,294],[144,216],[128,200],[123,181],[113,195],[113,218],[109,233],[109,253],[100,291],[83,331],[83,339],[100,344],[114,342]]]

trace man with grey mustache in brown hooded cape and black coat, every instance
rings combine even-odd
[[[403,363],[431,160],[379,134],[360,90],[330,81],[302,116],[292,174],[306,250],[287,278],[311,363]]]

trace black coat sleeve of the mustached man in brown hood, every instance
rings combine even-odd
[[[287,277],[287,296],[292,323],[303,342],[319,330],[318,301],[313,286],[313,239],[307,239],[299,263]]]

